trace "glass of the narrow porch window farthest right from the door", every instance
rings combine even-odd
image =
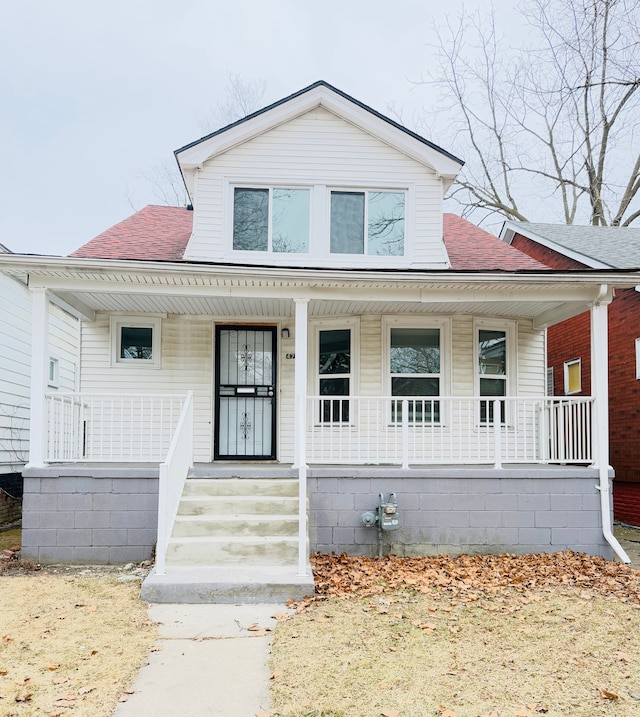
[[[480,423],[491,423],[494,399],[507,395],[507,332],[480,329],[477,348],[480,396],[491,396],[480,401]],[[500,421],[505,422],[504,401],[500,402]]]

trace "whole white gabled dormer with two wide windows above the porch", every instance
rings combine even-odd
[[[325,82],[176,151],[191,261],[449,268],[444,192],[461,160]]]

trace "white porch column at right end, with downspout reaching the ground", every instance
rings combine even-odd
[[[591,305],[591,394],[593,406],[593,458],[598,469],[602,534],[623,563],[631,562],[611,527],[609,481],[609,340],[608,305],[613,298],[606,285]]]

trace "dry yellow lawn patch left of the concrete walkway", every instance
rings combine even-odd
[[[138,581],[85,572],[0,573],[1,717],[108,717],[126,698],[156,628]]]

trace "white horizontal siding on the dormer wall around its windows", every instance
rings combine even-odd
[[[399,264],[442,267],[446,253],[442,241],[442,184],[430,168],[354,127],[343,119],[317,108],[239,147],[205,162],[196,182],[194,236],[185,258],[229,260],[231,249],[231,196],[229,182],[301,183],[349,187],[405,187],[409,190],[405,222],[405,258]],[[312,253],[314,265],[345,266],[344,255],[327,254],[328,209],[313,216],[317,232]],[[322,244],[323,247],[319,248]],[[413,245],[413,250],[410,244]],[[411,258],[413,253],[413,258]],[[264,263],[259,258],[243,261]],[[395,257],[359,258],[370,265],[395,265]],[[273,254],[269,263],[309,264],[292,255]]]

